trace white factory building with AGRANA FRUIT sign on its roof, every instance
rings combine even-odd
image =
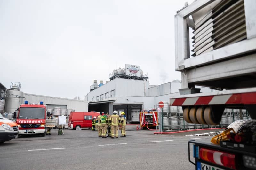
[[[156,109],[159,101],[169,102],[171,96],[179,95],[180,80],[158,86],[150,85],[148,74],[143,73],[140,66],[126,64],[125,67],[110,73],[110,81],[104,85],[102,81],[98,85],[94,80],[90,92],[84,98],[89,104],[88,111],[110,114],[114,110],[117,110],[118,114],[124,111],[129,122],[137,122],[141,110]],[[132,73],[129,72],[130,69]],[[202,91],[210,91],[210,89],[203,88]]]

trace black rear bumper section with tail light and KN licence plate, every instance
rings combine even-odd
[[[196,170],[256,169],[255,152],[224,148],[195,140],[188,141],[188,160],[195,165]]]

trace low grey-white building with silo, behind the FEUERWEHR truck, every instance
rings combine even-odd
[[[63,114],[70,113],[68,111],[88,112],[88,102],[84,100],[74,100],[68,98],[50,97],[24,93],[23,91],[21,91],[20,82],[11,82],[10,89],[7,89],[1,83],[0,86],[0,113],[15,112],[17,108],[20,106],[20,104],[24,104],[25,100],[29,103],[35,104],[37,104],[40,101],[43,101],[44,104],[47,105],[46,108],[59,108],[61,109],[61,113]]]

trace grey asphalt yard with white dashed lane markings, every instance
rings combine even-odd
[[[154,135],[127,125],[126,136],[99,138],[88,128],[64,130],[58,136],[21,135],[0,144],[0,169],[195,169],[188,161],[188,140],[210,141],[212,136],[186,133]],[[198,133],[198,132],[196,132]]]

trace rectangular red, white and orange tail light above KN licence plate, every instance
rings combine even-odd
[[[199,157],[207,162],[225,166],[230,169],[236,169],[234,154],[200,148]]]

